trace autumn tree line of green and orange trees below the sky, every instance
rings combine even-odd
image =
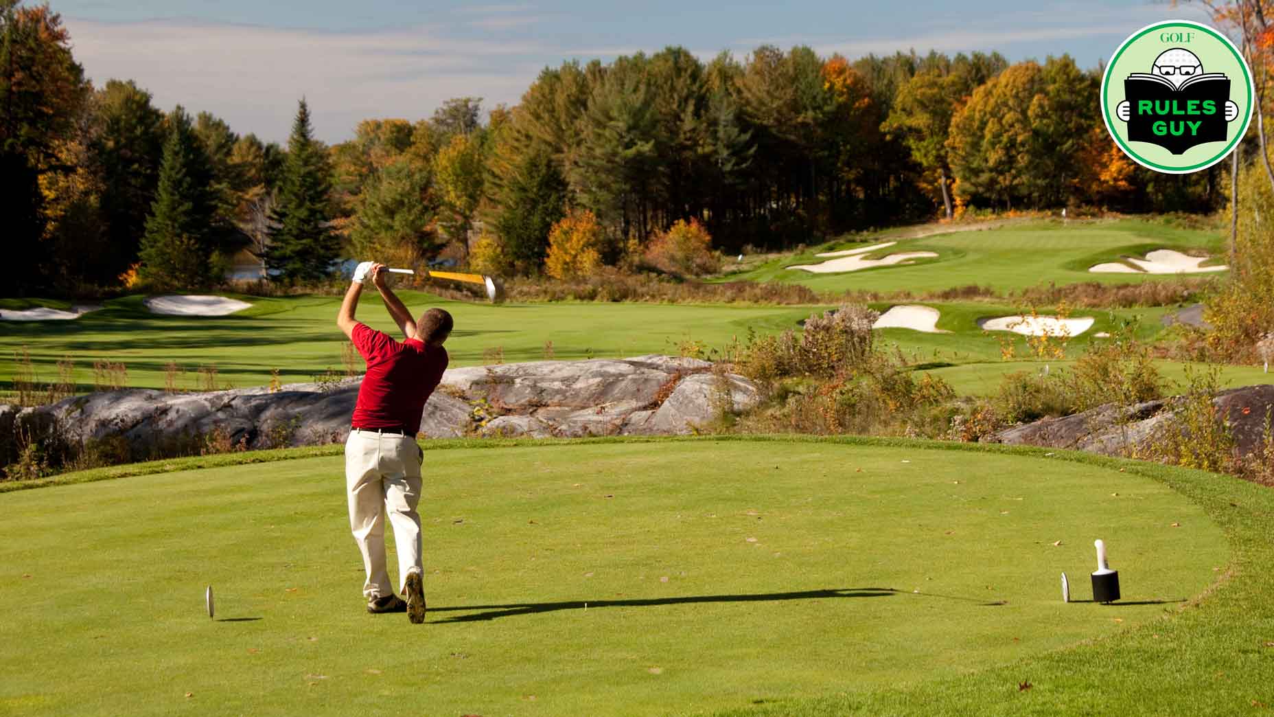
[[[545,68],[513,107],[447,101],[325,145],[299,102],[288,147],[209,112],[94,88],[47,5],[0,0],[0,175],[9,291],[218,282],[248,248],[276,281],[340,256],[466,262],[482,227],[506,270],[539,272],[575,211],[619,262],[676,222],[716,248],[785,248],[973,211],[1212,211],[1222,168],[1143,170],[1096,111],[1099,69],[999,54],[847,60],[682,47]]]

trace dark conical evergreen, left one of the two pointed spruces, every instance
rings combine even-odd
[[[169,117],[159,186],[141,237],[144,281],[159,288],[203,286],[209,279],[214,202],[208,154],[180,106]]]

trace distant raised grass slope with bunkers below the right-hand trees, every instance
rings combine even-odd
[[[1154,249],[1201,250],[1212,256],[1223,254],[1219,232],[1199,231],[1138,219],[1012,223],[980,231],[961,231],[924,239],[901,239],[897,244],[869,254],[879,259],[889,254],[931,251],[936,258],[915,259],[910,265],[880,267],[851,273],[813,274],[789,269],[798,264],[817,264],[820,251],[856,249],[882,241],[894,241],[880,232],[865,242],[833,241],[809,251],[785,255],[725,281],[777,281],[800,283],[815,291],[940,291],[958,286],[987,286],[999,292],[1033,286],[1079,282],[1135,283],[1172,281],[1172,276],[1101,274],[1088,269],[1124,255],[1142,256]],[[1218,276],[1218,274],[1186,274]]]

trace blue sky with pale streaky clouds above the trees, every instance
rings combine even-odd
[[[702,60],[761,45],[819,55],[999,51],[1107,60],[1138,28],[1206,20],[1199,3],[1138,0],[48,0],[98,87],[132,79],[171,110],[209,111],[285,142],[304,97],[324,142],[359,120],[429,117],[451,97],[516,105],[545,66],[683,46]]]

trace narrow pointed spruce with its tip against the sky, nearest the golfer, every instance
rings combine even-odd
[[[340,237],[330,227],[331,168],[310,126],[310,107],[301,101],[288,139],[279,199],[270,216],[270,249],[265,264],[287,282],[316,281],[331,273]]]

